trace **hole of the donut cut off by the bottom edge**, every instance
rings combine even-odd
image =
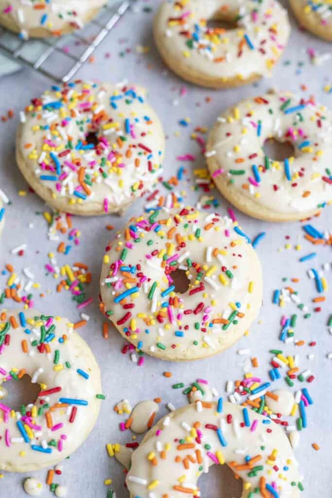
[[[201,475],[198,485],[202,498],[239,498],[243,489],[241,479],[235,479],[227,465],[210,467],[208,474]]]

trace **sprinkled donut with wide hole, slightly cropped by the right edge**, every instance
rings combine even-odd
[[[221,194],[249,216],[295,221],[332,199],[332,113],[290,93],[243,100],[210,131],[207,161]],[[289,142],[294,156],[276,161],[266,139]]]

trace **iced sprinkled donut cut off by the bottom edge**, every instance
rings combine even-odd
[[[242,479],[242,498],[298,498],[298,463],[286,434],[239,405],[202,402],[179,408],[146,434],[131,456],[131,498],[197,498],[197,481],[226,464]]]

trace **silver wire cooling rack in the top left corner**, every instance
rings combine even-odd
[[[0,27],[0,51],[54,81],[65,83],[92,56],[133,1],[110,0],[99,16],[83,29],[59,38],[24,41]]]

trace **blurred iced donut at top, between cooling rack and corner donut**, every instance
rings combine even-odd
[[[209,27],[226,21],[236,27]],[[278,1],[164,1],[154,38],[167,66],[180,77],[212,88],[240,86],[271,76],[290,34]]]

